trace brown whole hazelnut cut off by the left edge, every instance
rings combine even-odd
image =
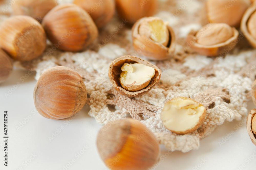
[[[13,70],[12,59],[0,49],[0,83],[4,82]]]

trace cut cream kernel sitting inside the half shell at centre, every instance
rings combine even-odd
[[[140,63],[124,63],[121,70],[120,83],[128,91],[138,91],[147,87],[155,75],[155,69],[153,67]]]

